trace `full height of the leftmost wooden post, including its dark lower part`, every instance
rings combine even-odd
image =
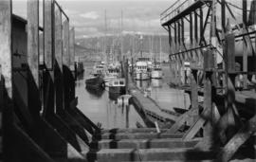
[[[12,140],[12,124],[13,124],[13,107],[8,102],[12,98],[12,48],[11,48],[11,14],[12,6],[10,0],[0,1],[0,65],[1,65],[1,82],[4,105],[0,105],[0,129],[2,130],[3,139],[1,148],[3,148],[3,161],[9,161],[9,157],[13,156],[15,149]],[[1,85],[0,85],[1,86]],[[9,147],[5,147],[9,146]],[[12,147],[11,147],[12,146]]]

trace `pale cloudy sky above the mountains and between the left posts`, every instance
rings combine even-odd
[[[57,2],[69,16],[70,25],[75,27],[76,37],[79,38],[102,36],[105,33],[119,34],[121,28],[124,33],[167,34],[160,26],[159,17],[160,13],[174,1],[59,0]],[[13,12],[26,18],[26,1],[14,0]]]

